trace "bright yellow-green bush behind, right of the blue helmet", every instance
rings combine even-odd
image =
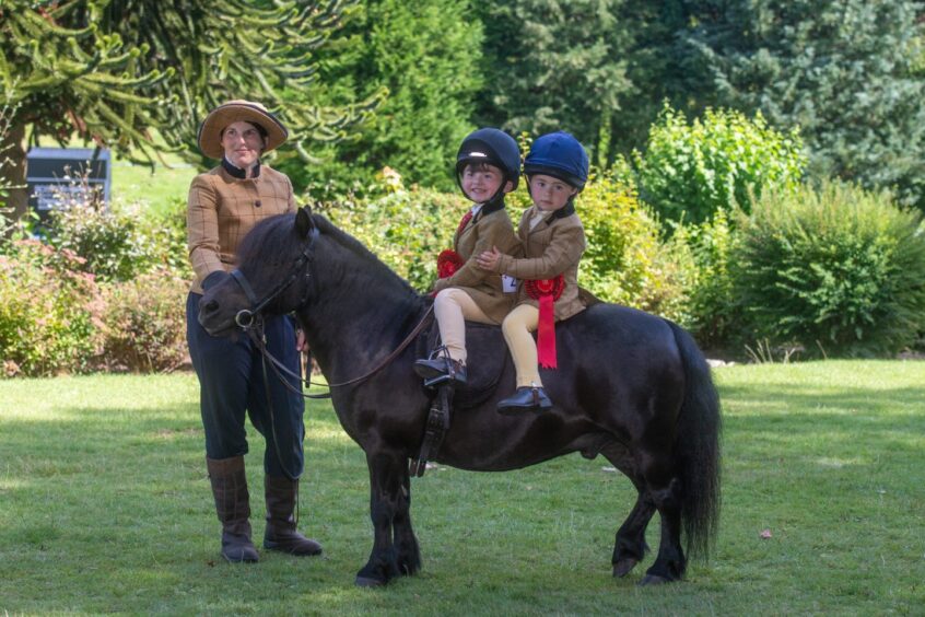
[[[735,205],[747,209],[750,191],[795,187],[806,159],[796,130],[781,133],[761,114],[707,109],[688,124],[665,107],[652,126],[644,154],[634,152],[640,197],[668,220],[701,223]]]

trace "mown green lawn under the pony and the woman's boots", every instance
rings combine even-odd
[[[353,575],[372,543],[364,457],[309,401],[300,527],[325,556],[219,556],[189,374],[0,381],[0,614],[922,615],[925,362],[715,371],[721,533],[686,582],[610,577],[633,490],[577,455],[412,481],[424,567]],[[251,434],[253,430],[251,430]],[[262,440],[247,456],[262,533]],[[762,538],[763,531],[770,537]],[[658,524],[649,528],[657,546]]]

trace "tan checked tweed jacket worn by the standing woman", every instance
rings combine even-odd
[[[196,273],[190,291],[195,293],[202,293],[202,279],[210,273],[234,269],[237,245],[254,225],[295,211],[289,177],[262,164],[256,178],[235,178],[221,165],[196,176],[187,203],[189,261]]]

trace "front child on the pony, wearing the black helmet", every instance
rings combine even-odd
[[[414,371],[429,383],[444,379],[466,383],[466,319],[496,325],[514,304],[516,283],[479,268],[476,256],[492,247],[518,251],[504,196],[517,187],[519,177],[520,149],[507,133],[482,128],[463,140],[456,182],[473,206],[459,221],[453,249],[441,253],[437,260],[441,278],[434,284],[434,314],[446,354],[414,363]]]

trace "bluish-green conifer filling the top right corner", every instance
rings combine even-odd
[[[925,207],[921,3],[699,3],[684,33],[718,104],[799,126],[817,177],[897,187]]]

